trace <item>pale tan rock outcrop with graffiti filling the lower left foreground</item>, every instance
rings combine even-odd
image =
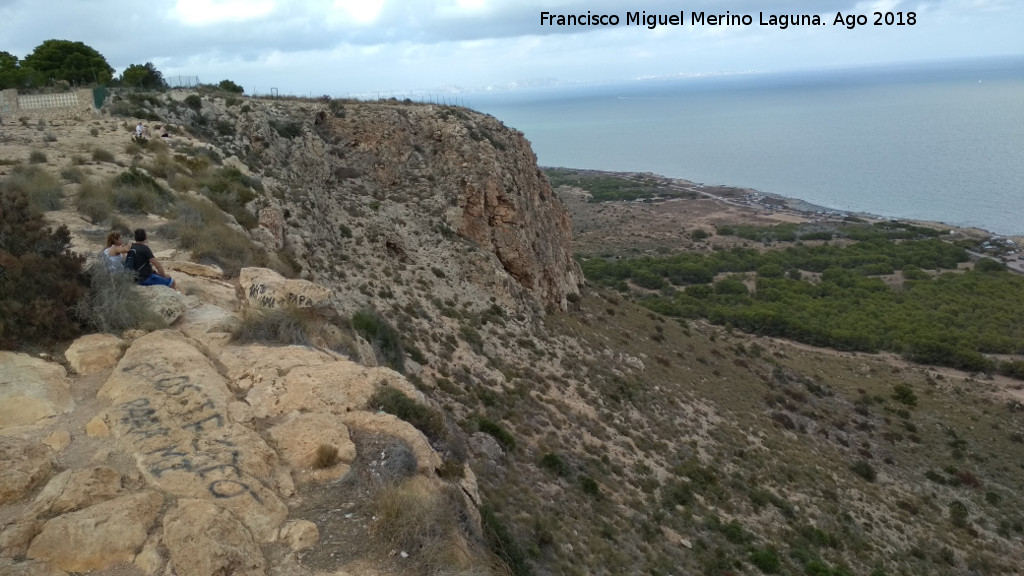
[[[275,276],[253,269],[247,278]],[[281,294],[327,293],[289,282]],[[423,434],[368,406],[384,384],[425,402],[402,375],[311,347],[231,344],[216,327],[236,316],[204,303],[165,330],[83,337],[66,354],[72,377],[53,362],[2,353],[3,390],[31,410],[0,423],[0,571],[133,565],[146,574],[284,574],[264,557],[267,546],[281,542],[298,553],[321,545],[313,519],[289,506],[307,486],[418,475],[418,486],[445,490],[436,475],[442,460]],[[75,378],[102,384],[76,403]],[[81,427],[73,435],[54,416]],[[401,469],[386,479],[384,461],[372,472],[353,469],[356,431],[377,439],[362,466],[399,454]],[[76,464],[51,478],[52,446]],[[467,481],[463,490],[475,494],[472,476]],[[18,507],[5,507],[12,503]]]

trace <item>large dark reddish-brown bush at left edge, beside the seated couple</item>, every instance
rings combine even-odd
[[[83,258],[71,252],[68,227],[53,231],[28,196],[0,187],[0,347],[48,345],[74,338],[74,314],[86,293]]]

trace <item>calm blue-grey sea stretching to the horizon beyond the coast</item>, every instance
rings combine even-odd
[[[504,90],[542,166],[653,172],[1024,236],[1024,55]]]

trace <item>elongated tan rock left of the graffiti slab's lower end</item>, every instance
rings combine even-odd
[[[123,490],[121,475],[114,468],[65,470],[53,477],[32,503],[35,517],[62,515],[117,497]]]

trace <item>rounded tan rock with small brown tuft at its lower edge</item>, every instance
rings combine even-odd
[[[278,453],[293,466],[315,467],[321,446],[335,448],[339,463],[349,464],[355,459],[355,445],[348,437],[348,428],[331,414],[292,414],[270,428],[270,438],[278,445]]]

